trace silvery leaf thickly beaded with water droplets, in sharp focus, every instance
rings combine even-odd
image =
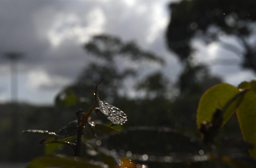
[[[127,115],[117,107],[99,100],[99,109],[114,125],[123,125],[127,121]]]

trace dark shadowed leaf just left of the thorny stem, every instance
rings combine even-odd
[[[76,134],[78,129],[77,125],[77,120],[70,121],[67,125],[60,128],[60,130],[57,132],[57,134],[59,135],[58,138],[67,138]]]

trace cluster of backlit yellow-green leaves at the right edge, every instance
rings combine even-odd
[[[214,133],[237,110],[237,118],[244,140],[253,146],[250,149],[250,155],[256,159],[256,93],[254,87],[255,80],[242,82],[237,88],[229,84],[219,84],[204,93],[197,110],[197,125],[204,134],[204,140],[208,138],[207,142],[211,141],[210,138],[214,138]],[[205,126],[207,123],[211,125]]]

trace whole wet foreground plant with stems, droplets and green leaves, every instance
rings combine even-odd
[[[201,139],[169,127],[133,126],[120,129],[128,121],[127,114],[100,100],[97,87],[102,80],[95,85],[95,91],[90,91],[94,97],[92,107],[88,112],[79,109],[77,120],[56,133],[23,131],[49,137],[40,142],[46,148],[57,144],[57,149],[62,150],[64,145],[73,149],[73,155],[69,156],[64,152],[52,152],[50,156],[36,158],[29,163],[29,168],[255,167],[255,80],[242,82],[238,87],[218,84],[203,94],[197,109]],[[99,107],[95,107],[97,104]],[[91,115],[93,112],[101,112],[111,126],[98,123]],[[240,147],[232,146],[232,141],[228,142],[229,146],[222,146],[216,139],[234,113],[245,142],[241,142]]]

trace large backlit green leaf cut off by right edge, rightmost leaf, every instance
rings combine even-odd
[[[256,159],[256,93],[248,91],[237,109],[237,118],[244,140],[253,145],[250,155]]]

